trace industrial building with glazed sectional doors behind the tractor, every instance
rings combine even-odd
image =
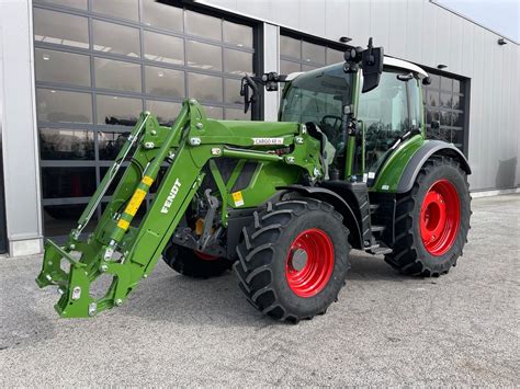
[[[171,123],[190,96],[275,121],[276,93],[244,114],[244,73],[339,62],[370,36],[429,72],[428,135],[466,155],[474,195],[517,192],[519,44],[434,1],[0,1],[0,253],[68,233],[140,111]]]

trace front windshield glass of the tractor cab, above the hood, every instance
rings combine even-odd
[[[284,90],[280,121],[313,122],[339,130],[342,106],[351,101],[351,80],[342,64],[298,76]]]

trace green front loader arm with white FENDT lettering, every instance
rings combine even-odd
[[[273,152],[273,145],[286,147],[290,152],[283,156]],[[61,294],[55,306],[58,313],[64,318],[88,317],[123,304],[154,270],[201,186],[207,163],[218,186],[225,226],[233,185],[223,181],[212,162],[222,157],[299,167],[310,181],[321,178],[325,169],[319,142],[307,134],[305,125],[280,124],[267,133],[258,125],[226,126],[207,119],[195,100],[184,101],[172,127],[160,126],[154,115],[143,113],[68,242],[60,247],[47,240],[45,244],[36,283],[39,287],[58,286]],[[167,172],[139,220],[135,216],[150,195],[161,167],[167,167]],[[84,227],[123,168],[124,173],[95,229],[84,239]],[[112,283],[101,298],[95,298],[92,284],[105,274],[112,276]]]

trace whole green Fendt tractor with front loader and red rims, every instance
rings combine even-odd
[[[371,41],[344,59],[245,77],[245,110],[260,85],[284,84],[278,123],[210,119],[195,100],[171,127],[140,114],[67,243],[46,242],[36,282],[58,286],[58,313],[121,306],[161,258],[191,277],[233,267],[255,308],[289,322],[338,298],[351,249],[404,274],[448,273],[470,229],[471,169],[453,145],[426,139],[428,75]],[[111,283],[97,297],[100,276]]]

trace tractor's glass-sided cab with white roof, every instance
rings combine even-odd
[[[420,82],[427,77],[421,68],[392,57],[384,57],[377,87],[365,92],[358,87],[364,83],[363,72],[346,71],[343,64],[292,73],[285,78],[279,119],[325,134],[336,151],[332,179],[371,186],[392,151],[422,133]]]

